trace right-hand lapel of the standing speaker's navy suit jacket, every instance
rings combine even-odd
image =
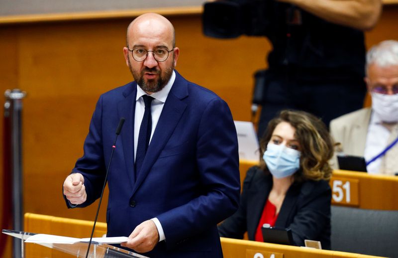
[[[183,100],[188,96],[188,82],[176,71],[176,80],[167,96],[162,113],[160,115],[156,129],[152,135],[148,150],[142,163],[141,171],[134,184],[133,194],[144,181],[156,162],[160,152],[163,150],[178,122],[183,115],[187,104]]]

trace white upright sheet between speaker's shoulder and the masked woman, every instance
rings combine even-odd
[[[259,144],[254,125],[251,122],[234,121],[238,134],[239,159],[259,160]]]

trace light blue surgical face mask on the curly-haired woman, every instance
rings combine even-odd
[[[268,143],[263,159],[268,170],[276,178],[293,175],[300,168],[301,152],[283,144]]]

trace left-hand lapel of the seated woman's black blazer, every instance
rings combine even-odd
[[[250,203],[248,204],[247,210],[250,214],[247,214],[247,234],[249,239],[253,239],[256,235],[258,224],[260,223],[261,215],[263,214],[265,203],[270,195],[272,188],[272,176],[265,175],[261,180],[256,181],[256,189],[253,196],[250,197]]]

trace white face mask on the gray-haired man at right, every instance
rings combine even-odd
[[[383,122],[398,122],[398,94],[372,92],[372,109]]]

